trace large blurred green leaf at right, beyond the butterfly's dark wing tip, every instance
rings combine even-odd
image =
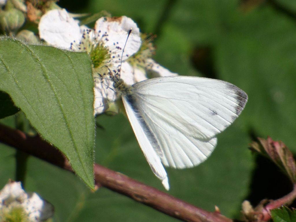
[[[269,24],[273,24],[272,28]],[[295,152],[295,22],[263,7],[229,22],[220,35],[220,76],[249,96],[242,117],[257,135],[281,140]]]

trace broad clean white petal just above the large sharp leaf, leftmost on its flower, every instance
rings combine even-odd
[[[54,9],[44,14],[38,26],[39,36],[47,43],[69,49],[73,41],[81,38],[78,21],[65,9]]]

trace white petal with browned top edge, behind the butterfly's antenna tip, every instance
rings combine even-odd
[[[132,32],[126,43],[128,32],[131,29]],[[95,32],[98,40],[104,39],[105,46],[116,47],[118,49],[117,57],[119,58],[121,58],[121,52],[126,43],[123,60],[136,53],[141,46],[140,31],[137,24],[126,16],[99,18],[95,24]]]

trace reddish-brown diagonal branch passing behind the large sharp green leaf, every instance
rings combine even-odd
[[[63,169],[72,171],[67,158],[39,136],[28,136],[22,131],[0,124],[0,142],[38,157]],[[73,171],[72,171],[73,172]],[[218,212],[208,212],[182,200],[142,184],[121,173],[94,165],[96,186],[104,186],[162,213],[192,222],[231,222]]]

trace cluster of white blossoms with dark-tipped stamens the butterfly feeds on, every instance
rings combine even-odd
[[[152,44],[149,39],[143,39],[136,23],[126,16],[101,17],[94,29],[90,29],[79,26],[65,9],[54,9],[41,17],[38,29],[40,38],[52,46],[90,54],[95,81],[95,114],[106,111],[110,102],[116,99],[110,73],[120,75],[127,85],[147,79],[147,73],[154,77],[177,75],[151,58]]]

